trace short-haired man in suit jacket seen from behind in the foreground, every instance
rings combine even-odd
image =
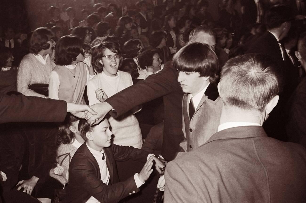
[[[223,66],[218,132],[167,164],[165,203],[305,201],[306,149],[267,137],[262,127],[279,98],[276,67],[256,54]]]

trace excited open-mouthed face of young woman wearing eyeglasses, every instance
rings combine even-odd
[[[120,55],[105,49],[104,56],[99,61],[103,65],[103,72],[107,76],[117,76]]]

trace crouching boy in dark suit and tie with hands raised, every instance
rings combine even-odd
[[[163,168],[164,164],[146,151],[128,146],[111,144],[112,132],[107,119],[95,126],[80,120],[78,129],[85,143],[76,150],[69,165],[69,185],[66,202],[118,202],[135,194],[149,178],[153,169]],[[119,182],[115,161],[147,161],[140,173],[135,173]]]

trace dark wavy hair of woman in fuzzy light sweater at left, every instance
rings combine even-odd
[[[53,32],[48,28],[37,28],[33,31],[30,39],[30,52],[37,55],[41,50],[50,48],[50,41],[54,38]]]

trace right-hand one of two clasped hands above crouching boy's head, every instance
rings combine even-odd
[[[90,106],[91,109],[93,109],[97,114],[93,115],[90,112],[86,114],[86,120],[89,124],[93,125],[95,123],[99,123],[104,116],[113,109],[111,105],[109,105],[106,101],[102,103],[97,103]]]

